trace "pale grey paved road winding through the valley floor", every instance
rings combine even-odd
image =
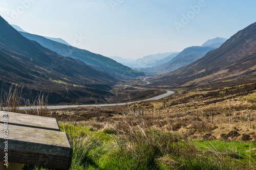
[[[143,81],[146,84],[137,84],[137,85],[147,85],[150,84],[150,82],[146,81],[147,77],[143,79]],[[146,88],[140,88],[140,87],[134,87],[133,84],[131,85],[125,85],[125,86],[129,86],[129,87],[133,87],[133,88],[138,88],[138,89],[144,89],[147,90]],[[135,102],[127,102],[127,103],[118,103],[118,104],[100,104],[100,105],[79,105],[79,107],[103,107],[103,106],[123,106],[123,105],[130,105],[133,103],[138,103],[138,102],[143,102],[143,101],[153,101],[153,100],[159,100],[159,99],[163,99],[165,97],[167,97],[168,95],[173,94],[173,91],[168,91],[166,90],[166,93],[158,95],[154,98],[150,98],[150,99],[145,99],[145,100],[140,100],[140,101],[135,101]],[[75,108],[78,107],[77,105],[73,105],[73,106],[47,106],[48,109],[64,109],[64,108]],[[34,107],[32,107],[34,108]],[[31,107],[20,107],[19,109],[23,110],[23,109],[31,109]]]

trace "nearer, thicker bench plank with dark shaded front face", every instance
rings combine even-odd
[[[5,152],[4,124],[0,124],[0,159]],[[8,125],[8,161],[68,169],[73,149],[65,132]]]

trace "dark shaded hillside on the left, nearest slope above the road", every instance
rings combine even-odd
[[[50,104],[103,102],[110,86],[118,82],[80,60],[58,55],[25,38],[1,16],[0,65],[4,92],[10,84],[23,82],[24,98],[35,99],[43,91],[49,94]]]

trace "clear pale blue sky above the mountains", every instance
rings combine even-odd
[[[0,15],[31,34],[137,59],[230,38],[256,22],[255,6],[255,0],[0,0]]]

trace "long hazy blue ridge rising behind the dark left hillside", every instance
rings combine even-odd
[[[115,60],[112,60],[108,57],[104,57],[100,54],[91,53],[87,50],[82,50],[73,46],[52,41],[50,39],[47,39],[39,35],[34,35],[34,34],[29,34],[24,32],[19,32],[19,33],[22,34],[24,37],[30,40],[34,40],[39,44],[41,44],[42,46],[49,48],[50,50],[58,53],[59,55],[71,57],[74,59],[79,59],[86,64],[98,65],[100,67],[107,68],[111,71],[114,71],[124,76],[130,76],[130,77],[144,76],[143,72],[135,71],[130,67],[124,66],[116,62]]]

